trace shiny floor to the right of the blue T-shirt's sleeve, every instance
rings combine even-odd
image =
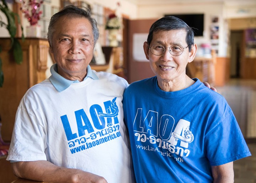
[[[256,80],[230,79],[216,88],[228,101],[252,154],[234,162],[234,182],[256,183]]]

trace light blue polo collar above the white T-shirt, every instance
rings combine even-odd
[[[75,81],[71,81],[71,80],[67,80],[64,77],[62,77],[61,75],[58,74],[57,72],[57,64],[53,64],[50,67],[50,72],[51,72],[51,76],[50,76],[50,82],[53,84],[53,86],[56,88],[57,91],[62,92],[64,90],[66,90],[66,88],[68,88],[72,83],[78,83],[78,80]],[[94,80],[98,80],[98,76],[92,72],[90,65],[87,66],[87,74],[84,78],[84,81],[88,78],[91,77]]]

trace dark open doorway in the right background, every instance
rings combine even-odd
[[[241,48],[243,31],[230,32],[230,77],[240,78]]]

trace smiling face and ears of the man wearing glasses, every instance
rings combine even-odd
[[[143,45],[146,58],[149,60],[151,69],[158,78],[160,88],[163,83],[169,83],[173,86],[185,83],[187,80],[186,66],[187,63],[193,61],[197,47],[196,44],[192,45],[191,52],[189,52],[188,48],[186,48],[188,46],[186,35],[187,33],[184,29],[158,31],[153,33],[150,45],[147,42]],[[155,44],[165,47],[165,52],[162,55],[154,55],[151,49],[149,49],[149,47]],[[168,51],[172,45],[181,45],[185,49],[181,55],[174,56]]]

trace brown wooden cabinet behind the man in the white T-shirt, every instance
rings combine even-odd
[[[9,53],[10,39],[0,38],[2,52],[2,70],[4,84],[0,87],[0,115],[2,118],[2,138],[11,140],[15,115],[21,98],[28,88],[46,79],[47,55],[49,44],[47,39],[26,38],[20,40],[23,52],[23,63],[15,63]]]

